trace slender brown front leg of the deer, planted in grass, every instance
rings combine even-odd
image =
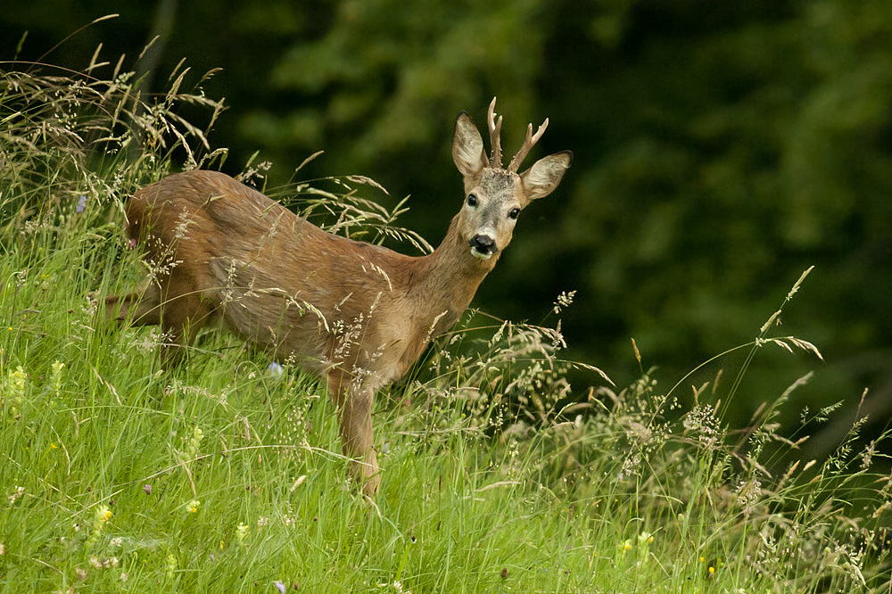
[[[362,492],[374,497],[381,485],[372,441],[375,392],[366,385],[352,386],[351,375],[338,368],[328,372],[328,392],[341,417],[341,442],[344,456],[351,458],[351,474]]]

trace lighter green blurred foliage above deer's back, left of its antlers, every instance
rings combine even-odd
[[[239,129],[281,153],[325,148],[326,169],[368,172],[397,193],[446,183],[455,196],[451,120],[500,95],[519,144],[555,26],[537,0],[345,0],[323,35],[295,39],[272,66],[270,87],[293,109],[260,106]]]

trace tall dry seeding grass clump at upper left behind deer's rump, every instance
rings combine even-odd
[[[181,68],[171,73],[166,95],[146,97],[123,56],[112,65],[100,60],[100,49],[80,72],[4,62],[0,226],[7,239],[120,204],[169,169],[174,155],[197,168],[225,154],[210,150],[206,129],[178,115],[197,105],[210,111],[208,128],[217,119],[223,105],[203,95],[203,78],[184,92],[189,70]]]

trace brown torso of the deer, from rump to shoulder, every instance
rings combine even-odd
[[[326,233],[232,177],[168,177],[137,192],[127,215],[129,237],[162,270],[157,307],[165,331],[186,333],[176,342],[222,319],[279,359],[318,375],[340,367],[373,390],[426,345],[390,338],[418,334],[401,290],[408,256]]]

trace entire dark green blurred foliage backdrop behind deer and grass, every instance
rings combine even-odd
[[[193,82],[221,68],[203,87],[229,105],[212,136],[231,148],[224,169],[260,151],[284,182],[324,149],[301,177],[359,173],[412,194],[403,222],[432,243],[461,200],[455,114],[483,124],[498,95],[507,152],[548,116],[537,151],[571,149],[574,166],[524,211],[483,309],[536,321],[576,290],[564,330],[577,356],[623,384],[639,373],[634,337],[673,384],[755,337],[814,264],[780,332],[827,362],[760,354],[764,373],[732,410],[745,419],[817,367],[800,406],[854,406],[870,386],[879,425],[892,411],[890,39],[888,0],[40,0],[0,12],[3,59],[80,70],[101,43],[156,91],[182,58]],[[739,360],[721,365],[732,375]]]

